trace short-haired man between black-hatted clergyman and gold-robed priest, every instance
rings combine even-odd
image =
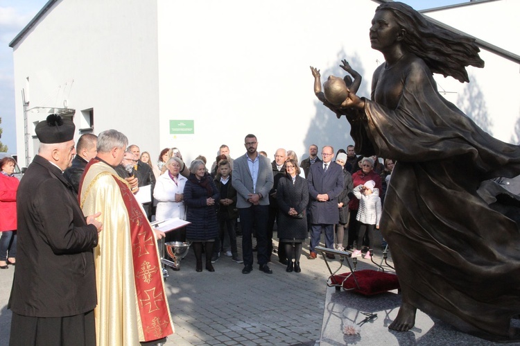
[[[63,176],[72,185],[76,195],[79,191],[81,175],[83,175],[85,171],[85,166],[87,166],[90,159],[94,159],[98,153],[96,148],[97,144],[98,137],[96,135],[92,133],[81,135],[76,145],[76,157],[72,160],[71,166],[63,172]]]

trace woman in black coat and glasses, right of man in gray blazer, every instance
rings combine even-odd
[[[307,181],[300,177],[300,168],[294,159],[285,162],[286,174],[277,187],[278,238],[287,254],[287,272],[300,273],[302,243],[307,237],[306,207],[309,203]],[[294,259],[294,262],[293,262]]]

